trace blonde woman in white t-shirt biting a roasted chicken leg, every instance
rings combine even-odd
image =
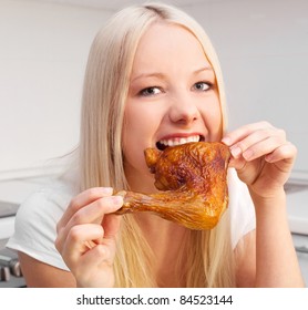
[[[284,192],[296,148],[265,122],[227,132],[225,101],[215,51],[192,18],[153,3],[111,19],[89,55],[74,182],[21,206],[8,245],[27,285],[304,286]],[[157,190],[146,147],[195,140],[223,141],[233,155],[229,207],[214,229],[114,215],[123,204],[114,190]]]

